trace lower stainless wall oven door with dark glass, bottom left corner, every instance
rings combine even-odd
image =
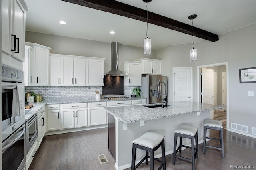
[[[23,170],[25,167],[25,124],[2,142],[2,170]]]

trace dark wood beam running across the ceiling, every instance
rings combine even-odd
[[[143,10],[134,6],[130,6],[128,4],[124,4],[122,2],[118,2],[115,0],[62,0],[62,1],[70,2],[73,4],[86,6],[88,8],[110,12],[112,14],[117,14],[120,16],[125,16],[128,18],[146,22],[146,10]],[[165,16],[161,16],[159,14],[155,14],[150,11],[148,11],[148,23],[192,35],[191,25],[185,24],[177,20],[173,20]],[[209,40],[212,42],[219,40],[219,36],[217,34],[214,34],[196,27],[194,27],[194,36],[202,38],[204,40]]]

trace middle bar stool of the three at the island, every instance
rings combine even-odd
[[[189,162],[192,162],[192,169],[195,170],[195,159],[198,158],[198,136],[197,136],[197,127],[194,127],[192,125],[182,124],[174,131],[174,147],[173,147],[173,158],[172,158],[172,164],[175,165],[175,158],[180,158],[183,160],[187,160]],[[178,149],[177,147],[177,138],[180,137],[180,145]],[[182,138],[188,138],[191,139],[191,147],[182,145]],[[194,140],[196,139],[196,147],[194,146]],[[181,153],[181,147],[190,148],[192,150],[192,159],[188,159],[182,156],[176,155],[179,151]],[[196,150],[196,152],[195,152]]]

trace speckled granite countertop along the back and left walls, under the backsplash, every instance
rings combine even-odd
[[[114,99],[114,100],[107,100],[107,99],[96,99],[96,97],[50,97],[44,99],[42,102],[35,102],[33,103],[33,107],[31,110],[25,115],[26,121],[34,116],[39,109],[44,107],[45,105],[50,104],[66,104],[66,103],[90,103],[90,102],[102,102],[102,101],[125,101],[125,100],[140,100],[146,99],[141,97],[136,98],[126,98],[126,99]]]

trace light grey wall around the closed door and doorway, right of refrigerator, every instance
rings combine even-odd
[[[247,92],[254,91],[256,95],[256,83],[239,83],[238,69],[256,67],[256,24],[222,34],[219,39],[196,43],[198,61],[195,63],[189,61],[192,44],[159,49],[157,59],[165,60],[163,72],[169,76],[169,89],[172,89],[172,67],[193,66],[194,101],[197,101],[198,94],[197,66],[228,62],[229,123],[247,125],[251,134],[251,127],[256,127],[256,96],[248,96]],[[172,91],[169,91],[169,101],[172,101]]]

